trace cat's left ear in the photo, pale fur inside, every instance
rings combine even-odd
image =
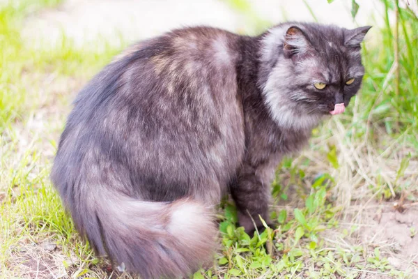
[[[295,54],[304,54],[311,49],[311,43],[298,27],[290,27],[284,36],[284,56],[291,58]]]

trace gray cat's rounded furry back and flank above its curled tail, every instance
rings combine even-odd
[[[69,161],[111,162],[132,181],[147,181],[150,199],[160,198],[153,189],[167,181],[228,183],[245,152],[239,38],[195,27],[130,47],[79,93],[55,169],[72,172]]]

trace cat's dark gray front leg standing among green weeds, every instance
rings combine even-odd
[[[264,229],[260,216],[265,223],[271,224],[270,184],[278,163],[278,156],[272,156],[267,163],[258,165],[245,163],[238,173],[237,181],[231,186],[231,195],[238,208],[238,221],[247,234],[254,234],[256,227]]]

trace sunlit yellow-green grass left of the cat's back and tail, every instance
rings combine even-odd
[[[0,9],[1,278],[34,278],[39,265],[60,264],[56,270],[65,272],[65,265],[92,260],[49,182],[49,167],[74,92],[120,50],[105,41],[97,42],[100,51],[77,48],[65,36],[54,47],[29,45],[20,36],[24,16],[57,3],[10,1]],[[45,250],[36,243],[45,241],[59,252],[42,263]]]

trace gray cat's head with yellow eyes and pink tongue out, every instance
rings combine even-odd
[[[267,33],[263,93],[274,119],[308,128],[321,116],[343,112],[362,84],[360,43],[370,28],[285,24]]]

